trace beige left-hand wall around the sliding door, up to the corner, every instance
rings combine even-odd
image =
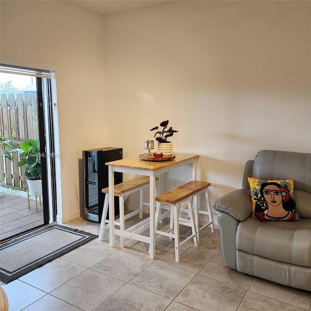
[[[1,1],[1,56],[56,68],[62,206],[80,216],[78,159],[106,146],[104,18],[67,1]]]

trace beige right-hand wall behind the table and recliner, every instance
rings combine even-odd
[[[310,153],[310,20],[308,1],[173,1],[106,17],[108,143],[138,155],[170,120],[173,150],[200,155],[212,201],[241,187],[261,149]]]

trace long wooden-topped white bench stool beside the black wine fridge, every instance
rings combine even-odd
[[[156,177],[155,180],[158,180]],[[144,188],[149,187],[149,177],[148,176],[140,176],[138,178],[134,178],[131,180],[124,181],[114,187],[114,195],[119,196],[119,207],[120,207],[120,219],[115,220],[115,225],[119,225],[121,230],[124,230],[124,221],[129,219],[139,213],[139,218],[143,216],[143,190]],[[140,191],[139,195],[139,208],[134,210],[131,213],[124,215],[124,196],[130,193]],[[109,228],[109,220],[107,219],[108,214],[108,206],[109,206],[109,188],[104,188],[102,190],[105,193],[104,199],[104,208],[102,214],[101,226],[99,229],[98,240],[103,241],[104,239],[104,231]],[[125,246],[124,237],[121,237],[121,247]]]

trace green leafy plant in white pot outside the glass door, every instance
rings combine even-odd
[[[17,143],[18,148],[13,148]],[[18,167],[26,166],[25,176],[27,177],[28,190],[30,195],[42,195],[41,183],[41,159],[39,139],[25,139],[25,142],[14,140],[2,140],[1,145],[8,146],[11,150],[1,149],[1,153],[12,160],[14,154],[19,155]]]

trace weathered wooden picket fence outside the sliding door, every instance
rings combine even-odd
[[[38,104],[36,92],[1,94],[0,98],[0,135],[14,136],[18,141],[39,138]],[[2,147],[3,148],[3,147]],[[6,147],[6,149],[8,149]],[[8,149],[9,150],[9,149]],[[1,154],[2,155],[2,154]],[[27,188],[25,167],[17,167],[19,158],[13,160],[1,156],[0,182],[9,186]]]

